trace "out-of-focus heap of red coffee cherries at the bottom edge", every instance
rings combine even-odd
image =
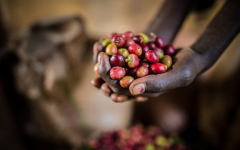
[[[87,141],[81,150],[186,150],[186,147],[179,137],[166,137],[157,127],[144,129],[135,125],[105,132],[99,139]]]

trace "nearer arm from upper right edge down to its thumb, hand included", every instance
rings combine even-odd
[[[176,54],[171,70],[136,79],[129,87],[131,94],[160,93],[189,85],[216,62],[239,33],[239,14],[240,1],[227,1],[195,44]]]

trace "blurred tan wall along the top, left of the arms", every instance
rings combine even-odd
[[[62,15],[80,15],[90,37],[110,32],[140,32],[154,18],[164,1],[1,1],[7,27],[21,31],[35,21]]]

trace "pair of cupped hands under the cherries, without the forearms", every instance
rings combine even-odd
[[[164,91],[189,85],[201,71],[201,61],[201,55],[191,48],[180,49],[173,57],[173,65],[167,72],[138,78],[131,83],[129,88],[124,89],[118,80],[110,78],[109,57],[101,52],[99,54],[99,74],[105,82],[101,85],[101,89],[104,93],[111,95],[114,101],[126,100],[133,96],[156,97]]]

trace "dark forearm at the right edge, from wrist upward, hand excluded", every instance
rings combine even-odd
[[[200,72],[211,67],[240,31],[240,1],[227,1],[191,48],[201,55]]]

